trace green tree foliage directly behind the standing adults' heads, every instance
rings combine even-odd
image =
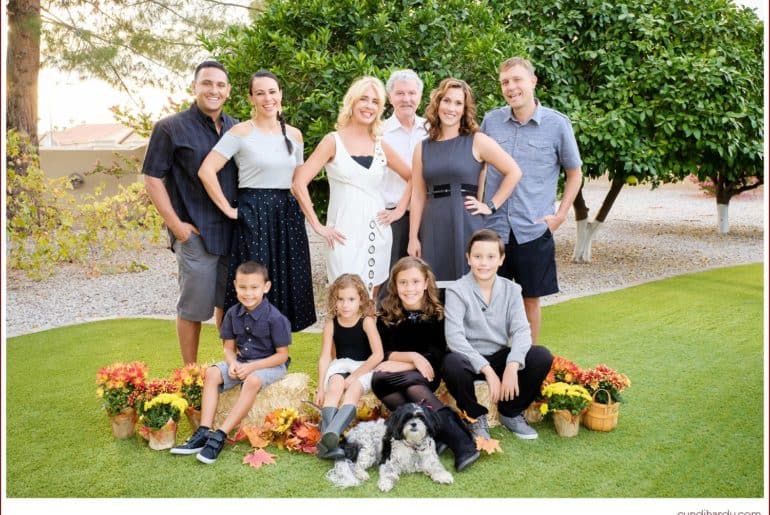
[[[251,26],[229,27],[204,44],[228,68],[227,109],[240,119],[249,116],[252,73],[266,68],[281,79],[287,119],[303,131],[308,151],[333,130],[342,97],[358,77],[385,81],[393,70],[412,68],[425,82],[426,102],[433,87],[454,76],[471,85],[481,113],[500,103],[500,61],[524,48],[485,1],[466,0],[272,0]],[[325,179],[319,180],[316,201],[326,195]]]

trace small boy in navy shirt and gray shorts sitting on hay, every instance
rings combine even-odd
[[[267,268],[246,261],[235,271],[238,304],[225,313],[220,329],[225,360],[206,370],[201,400],[201,425],[188,440],[171,449],[172,454],[196,454],[198,461],[214,463],[227,434],[254,404],[259,390],[286,375],[291,343],[289,320],[265,294],[270,291]],[[233,409],[214,431],[219,394],[241,385]]]

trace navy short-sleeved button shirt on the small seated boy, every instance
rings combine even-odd
[[[240,303],[228,309],[219,336],[235,340],[238,361],[252,361],[272,356],[278,347],[287,347],[291,343],[291,324],[263,297],[252,312]]]

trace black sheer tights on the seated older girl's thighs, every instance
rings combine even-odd
[[[390,411],[395,411],[407,402],[424,403],[438,409],[444,404],[433,392],[440,382],[439,377],[429,382],[417,370],[375,372],[372,376],[372,391]]]

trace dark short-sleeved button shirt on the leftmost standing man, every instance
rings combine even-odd
[[[222,114],[222,134],[237,120]],[[142,173],[163,179],[171,205],[183,222],[198,228],[211,254],[226,256],[234,223],[211,201],[198,179],[201,163],[220,139],[214,120],[193,105],[163,118],[152,129]],[[238,193],[238,169],[232,160],[217,174],[225,197],[234,205]],[[169,231],[171,243],[174,235]]]

